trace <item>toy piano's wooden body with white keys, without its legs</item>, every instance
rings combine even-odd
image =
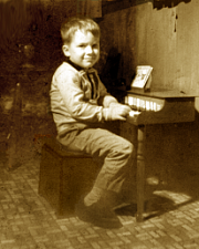
[[[139,114],[129,114],[128,122],[135,125],[191,122],[195,120],[195,96],[179,91],[140,93],[127,92],[124,103]]]

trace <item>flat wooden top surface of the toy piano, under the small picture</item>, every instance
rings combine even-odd
[[[150,92],[144,92],[139,89],[132,89],[127,93],[133,93],[142,96],[157,97],[157,98],[171,98],[171,97],[196,97],[193,93],[185,93],[179,90],[153,90]]]

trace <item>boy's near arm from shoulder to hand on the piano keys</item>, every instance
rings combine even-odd
[[[57,87],[67,112],[80,122],[126,121],[129,114],[127,105],[119,104],[115,97],[104,95],[104,107],[88,103],[81,89],[81,79],[74,72],[62,73],[56,77]],[[105,87],[105,86],[104,86]],[[104,91],[104,90],[103,90]],[[105,92],[104,92],[105,93]],[[115,103],[118,107],[113,107]]]

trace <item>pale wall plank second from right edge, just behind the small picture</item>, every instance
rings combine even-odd
[[[148,21],[148,40],[149,50],[148,64],[154,68],[154,87],[172,89],[174,63],[175,63],[175,8],[151,10],[150,20]]]

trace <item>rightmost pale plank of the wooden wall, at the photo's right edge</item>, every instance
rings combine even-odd
[[[177,25],[177,75],[176,84],[185,92],[198,94],[199,82],[199,3],[179,4]],[[197,101],[198,102],[198,101]],[[196,106],[198,108],[198,106]]]

